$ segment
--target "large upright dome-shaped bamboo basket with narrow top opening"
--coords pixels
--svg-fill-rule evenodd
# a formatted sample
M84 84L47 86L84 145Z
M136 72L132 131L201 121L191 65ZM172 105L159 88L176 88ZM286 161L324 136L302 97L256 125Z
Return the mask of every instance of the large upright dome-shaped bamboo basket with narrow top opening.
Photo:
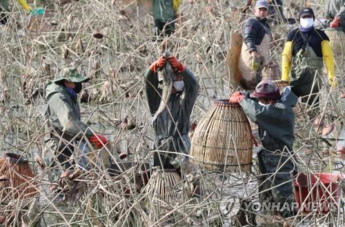
M253 135L244 111L228 99L215 101L195 129L193 162L214 172L250 172Z

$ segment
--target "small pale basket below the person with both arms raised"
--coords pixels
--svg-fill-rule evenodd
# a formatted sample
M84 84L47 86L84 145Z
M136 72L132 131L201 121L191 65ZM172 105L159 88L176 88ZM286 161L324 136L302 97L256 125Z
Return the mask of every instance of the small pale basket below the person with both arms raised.
M148 181L148 193L150 195L161 195L166 201L182 201L182 179L179 173L174 169L157 168L152 172L150 181Z

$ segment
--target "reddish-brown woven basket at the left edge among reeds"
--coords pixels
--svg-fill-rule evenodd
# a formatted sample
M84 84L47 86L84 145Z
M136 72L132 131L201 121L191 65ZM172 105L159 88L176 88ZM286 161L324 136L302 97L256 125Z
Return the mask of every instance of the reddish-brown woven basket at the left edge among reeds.
M21 155L6 153L0 158L0 175L10 178L10 186L14 189L14 198L28 199L37 195L34 174L29 162Z

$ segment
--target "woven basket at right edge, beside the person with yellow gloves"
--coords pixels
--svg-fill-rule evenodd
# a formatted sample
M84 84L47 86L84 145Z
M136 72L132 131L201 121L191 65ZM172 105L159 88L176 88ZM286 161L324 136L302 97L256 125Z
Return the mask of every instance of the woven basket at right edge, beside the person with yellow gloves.
M325 30L334 56L345 55L345 34L342 28L328 28Z

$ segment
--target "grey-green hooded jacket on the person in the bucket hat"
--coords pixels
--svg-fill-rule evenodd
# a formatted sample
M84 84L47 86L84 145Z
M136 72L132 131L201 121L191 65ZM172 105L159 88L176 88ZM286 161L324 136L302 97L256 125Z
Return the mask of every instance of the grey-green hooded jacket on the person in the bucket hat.
M48 125L63 138L70 140L76 135L81 139L83 133L92 135L88 126L80 121L80 108L77 97L72 97L66 88L58 83L48 83L46 87L46 113ZM50 132L53 132L50 128Z

